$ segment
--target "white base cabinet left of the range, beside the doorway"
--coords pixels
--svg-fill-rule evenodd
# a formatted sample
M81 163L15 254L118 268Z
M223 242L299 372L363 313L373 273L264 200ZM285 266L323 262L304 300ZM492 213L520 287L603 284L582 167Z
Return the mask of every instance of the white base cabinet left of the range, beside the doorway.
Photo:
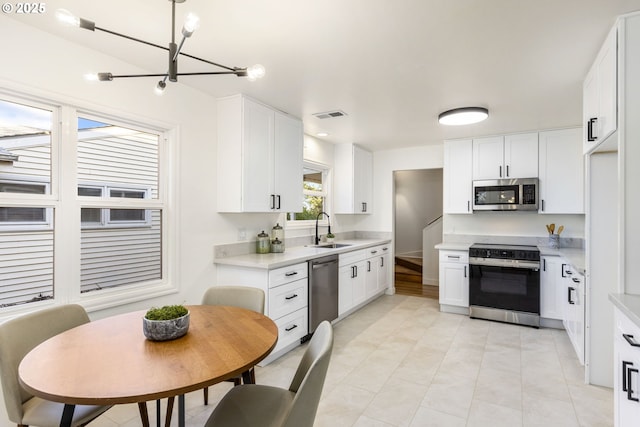
M468 314L469 252L440 251L440 310Z

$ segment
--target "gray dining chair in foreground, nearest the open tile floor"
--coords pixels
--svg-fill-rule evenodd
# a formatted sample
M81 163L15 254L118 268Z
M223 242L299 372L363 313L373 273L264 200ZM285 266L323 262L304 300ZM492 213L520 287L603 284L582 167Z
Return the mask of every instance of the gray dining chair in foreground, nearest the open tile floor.
M333 348L333 329L323 321L309 342L288 389L259 384L233 387L206 427L312 427Z

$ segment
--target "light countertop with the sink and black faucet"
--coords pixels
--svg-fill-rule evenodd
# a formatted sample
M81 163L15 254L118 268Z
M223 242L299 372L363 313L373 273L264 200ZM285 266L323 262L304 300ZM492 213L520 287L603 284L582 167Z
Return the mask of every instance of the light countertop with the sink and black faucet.
M245 254L236 255L230 257L220 257L214 259L215 264L219 265L233 265L237 267L249 267L271 270L279 267L286 267L288 265L296 264L299 262L306 262L310 259L320 258L327 255L341 254L345 252L351 252L359 249L365 249L372 246L383 245L390 243L389 239L352 239L352 240L339 240L333 243L346 244L342 248L317 248L313 246L295 246L292 248L287 247L283 253L268 253L268 254ZM323 244L323 243L321 243Z

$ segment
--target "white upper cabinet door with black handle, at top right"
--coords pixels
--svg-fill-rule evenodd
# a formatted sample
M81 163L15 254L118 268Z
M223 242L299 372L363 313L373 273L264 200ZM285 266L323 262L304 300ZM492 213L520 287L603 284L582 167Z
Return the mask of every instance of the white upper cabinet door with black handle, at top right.
M584 152L593 151L618 127L617 28L604 41L583 84Z

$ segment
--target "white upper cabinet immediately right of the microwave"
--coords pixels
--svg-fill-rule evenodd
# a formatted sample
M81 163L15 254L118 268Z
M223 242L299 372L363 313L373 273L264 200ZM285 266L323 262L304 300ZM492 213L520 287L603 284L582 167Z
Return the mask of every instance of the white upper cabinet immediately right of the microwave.
M582 129L539 134L539 213L584 213Z

